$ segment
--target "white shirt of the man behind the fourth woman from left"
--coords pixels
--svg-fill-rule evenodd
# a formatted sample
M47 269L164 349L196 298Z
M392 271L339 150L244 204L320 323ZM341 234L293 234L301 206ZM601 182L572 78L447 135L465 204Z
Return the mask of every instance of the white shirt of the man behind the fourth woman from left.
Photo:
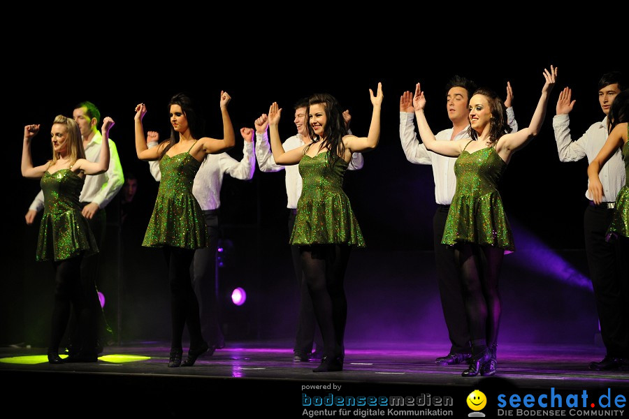
M435 181L435 202L440 205L450 205L454 191L456 191L456 175L454 175L454 162L456 157L442 156L429 152L423 142L417 140L414 125L415 114L412 112L400 112L400 140L406 159L415 164L429 164L433 166L433 179ZM513 108L507 108L507 122L512 132L518 131L518 123L515 120ZM453 128L444 129L435 135L438 141L461 140L468 138L468 126L460 133L456 133L451 139Z

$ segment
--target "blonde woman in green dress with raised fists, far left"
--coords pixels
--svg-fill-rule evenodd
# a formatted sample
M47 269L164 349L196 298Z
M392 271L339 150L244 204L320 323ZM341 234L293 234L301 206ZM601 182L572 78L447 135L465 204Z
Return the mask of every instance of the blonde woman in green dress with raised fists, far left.
M66 330L71 304L78 313L80 351L73 362L96 362L96 314L89 304L91 289L81 288L82 258L99 251L87 220L81 214L79 196L85 175L99 175L109 167L109 130L113 119L103 119L101 154L98 162L87 161L81 131L74 119L57 115L50 130L52 159L33 167L31 140L39 124L24 126L22 176L39 179L44 193L44 212L39 228L36 260L52 260L55 267L55 307L48 346L48 362L61 364L59 344ZM89 286L88 286L89 288Z

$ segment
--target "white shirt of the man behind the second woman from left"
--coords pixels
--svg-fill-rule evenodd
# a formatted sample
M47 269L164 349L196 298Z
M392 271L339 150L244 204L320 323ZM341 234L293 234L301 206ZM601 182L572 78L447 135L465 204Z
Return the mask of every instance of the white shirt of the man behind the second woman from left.
M157 141L148 144L149 148L155 146L157 146ZM240 161L233 159L227 153L207 154L192 184L192 194L201 206L201 210L217 210L221 206L221 185L225 173L236 179L249 180L253 178L255 166L253 142L245 141L243 159ZM150 161L149 167L151 175L159 182L161 180L159 160Z

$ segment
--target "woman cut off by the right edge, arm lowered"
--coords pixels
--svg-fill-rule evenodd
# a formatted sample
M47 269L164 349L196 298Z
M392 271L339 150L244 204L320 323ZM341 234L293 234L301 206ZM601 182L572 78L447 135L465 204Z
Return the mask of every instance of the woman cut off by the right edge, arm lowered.
M600 168L609 160L617 149L621 149L623 160L625 161L626 179L629 178L629 89L621 91L609 108L609 136L603 145L598 156L588 166L588 177L590 179L588 189L595 204L600 204L603 197L603 188L598 174ZM627 182L625 180L625 182ZM606 197L613 200L614 197ZM616 210L614 218L609 226L607 240L612 236L621 236L621 240L626 242L629 238L629 186L621 188L616 197ZM629 354L628 354L629 355Z

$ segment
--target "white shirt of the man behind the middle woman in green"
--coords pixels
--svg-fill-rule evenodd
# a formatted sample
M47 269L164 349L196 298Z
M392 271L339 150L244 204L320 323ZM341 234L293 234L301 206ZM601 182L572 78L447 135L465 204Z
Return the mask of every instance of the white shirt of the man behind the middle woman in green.
M305 143L301 134L293 135L286 141L282 142L284 151L296 149L301 147ZM280 166L275 164L273 159L273 152L270 149L270 143L268 142L268 133L265 131L263 134L256 132L256 157L258 159L258 166L263 172L279 172L280 170L286 170L286 195L287 195L287 208L296 210L297 201L301 196L301 189L303 187L303 179L299 174L299 165L293 164L289 166ZM349 170L360 170L365 164L362 153L352 154L352 161L349 162Z

